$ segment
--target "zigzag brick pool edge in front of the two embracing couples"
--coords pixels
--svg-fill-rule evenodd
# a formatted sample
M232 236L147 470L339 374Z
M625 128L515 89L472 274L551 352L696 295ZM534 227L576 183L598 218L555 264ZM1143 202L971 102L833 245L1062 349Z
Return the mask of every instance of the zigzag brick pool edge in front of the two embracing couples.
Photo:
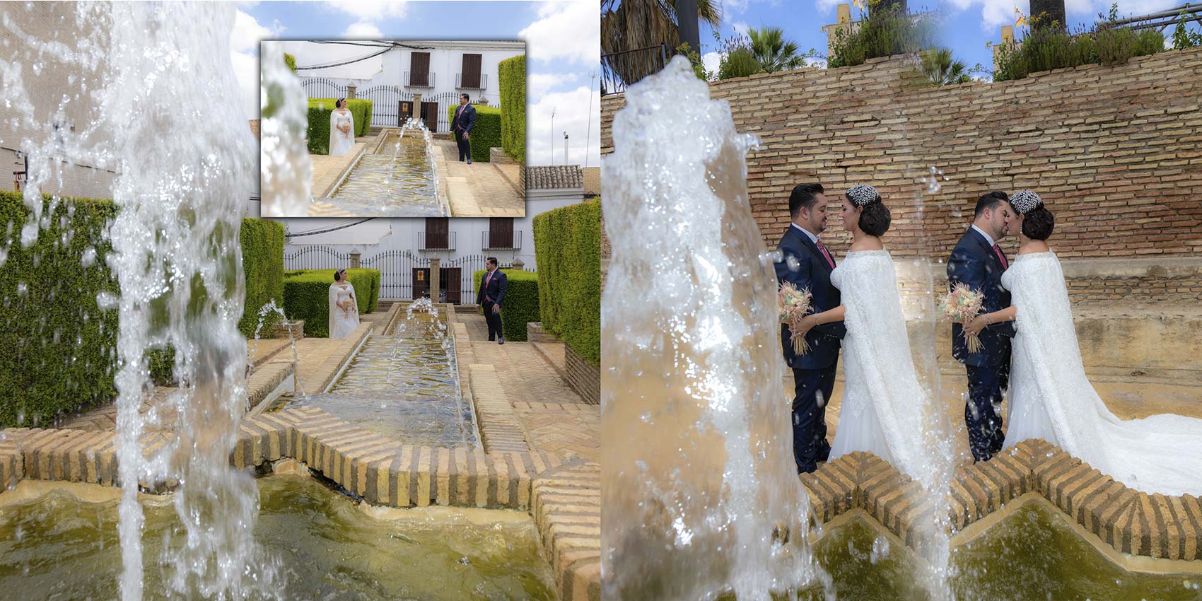
M916 494L915 481L883 459L850 453L801 478L819 522L858 507L910 547L922 545L915 528L923 513L933 511L932 504ZM988 462L957 469L951 522L963 530L1028 493L1047 499L1120 553L1202 560L1202 501L1197 496L1127 488L1043 440L1027 440Z

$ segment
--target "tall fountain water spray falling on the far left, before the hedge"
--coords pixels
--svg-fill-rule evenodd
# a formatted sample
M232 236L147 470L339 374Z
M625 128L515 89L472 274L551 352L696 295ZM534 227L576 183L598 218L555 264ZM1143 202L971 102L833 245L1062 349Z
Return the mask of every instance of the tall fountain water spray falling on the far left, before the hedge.
M14 8L13 11L19 11ZM25 11L30 5L25 5ZM119 298L97 298L119 311L117 340L117 459L123 487L120 542L125 601L143 596L139 484L178 484L180 519L165 546L165 581L182 596L274 597L276 563L264 558L252 531L258 494L249 474L230 466L242 418L245 339L237 329L244 284L239 226L254 185L248 115L237 101L228 59L234 11L218 5L79 4L73 44L32 42L37 63L63 65L77 77L71 108L79 131L47 126L22 79L20 65L0 65L5 99L18 99L20 119L38 132L22 142L31 153L25 200L37 206L22 232L28 245L46 227L41 194L63 188L63 165L111 169L118 206L105 257ZM32 18L32 16L30 16ZM5 16L6 23L12 23ZM282 64L282 61L280 61ZM305 178L308 179L308 178ZM88 257L83 257L88 261ZM95 258L91 258L93 261ZM175 351L171 395L178 413L166 440L151 440L153 416L139 410L153 391L147 351Z

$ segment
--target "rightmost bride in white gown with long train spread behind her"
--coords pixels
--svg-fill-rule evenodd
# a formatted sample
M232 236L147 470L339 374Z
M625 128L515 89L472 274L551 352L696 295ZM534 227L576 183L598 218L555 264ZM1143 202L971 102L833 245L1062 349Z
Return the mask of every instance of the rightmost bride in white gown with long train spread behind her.
M1039 195L1010 200L1020 248L1001 276L1012 305L970 323L1014 320L1005 447L1043 439L1146 493L1202 494L1202 419L1161 413L1119 419L1085 376L1060 261L1045 242L1054 219ZM965 328L969 331L969 328Z

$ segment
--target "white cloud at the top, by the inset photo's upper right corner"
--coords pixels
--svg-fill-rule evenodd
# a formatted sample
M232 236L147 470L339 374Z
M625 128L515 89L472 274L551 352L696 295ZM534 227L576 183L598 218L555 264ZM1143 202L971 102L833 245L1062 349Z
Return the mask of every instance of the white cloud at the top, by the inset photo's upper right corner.
M534 60L601 63L601 19L596 2L542 2L538 19L518 31Z

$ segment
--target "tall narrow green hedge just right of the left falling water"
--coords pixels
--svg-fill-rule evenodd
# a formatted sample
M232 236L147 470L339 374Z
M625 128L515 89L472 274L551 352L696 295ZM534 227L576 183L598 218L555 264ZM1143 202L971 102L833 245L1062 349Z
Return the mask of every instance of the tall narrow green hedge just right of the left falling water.
M238 332L252 339L258 310L272 300L284 307L284 225L267 219L243 219L238 239L246 280L246 302ZM266 335L279 321L280 314L275 311L264 315L258 335Z

